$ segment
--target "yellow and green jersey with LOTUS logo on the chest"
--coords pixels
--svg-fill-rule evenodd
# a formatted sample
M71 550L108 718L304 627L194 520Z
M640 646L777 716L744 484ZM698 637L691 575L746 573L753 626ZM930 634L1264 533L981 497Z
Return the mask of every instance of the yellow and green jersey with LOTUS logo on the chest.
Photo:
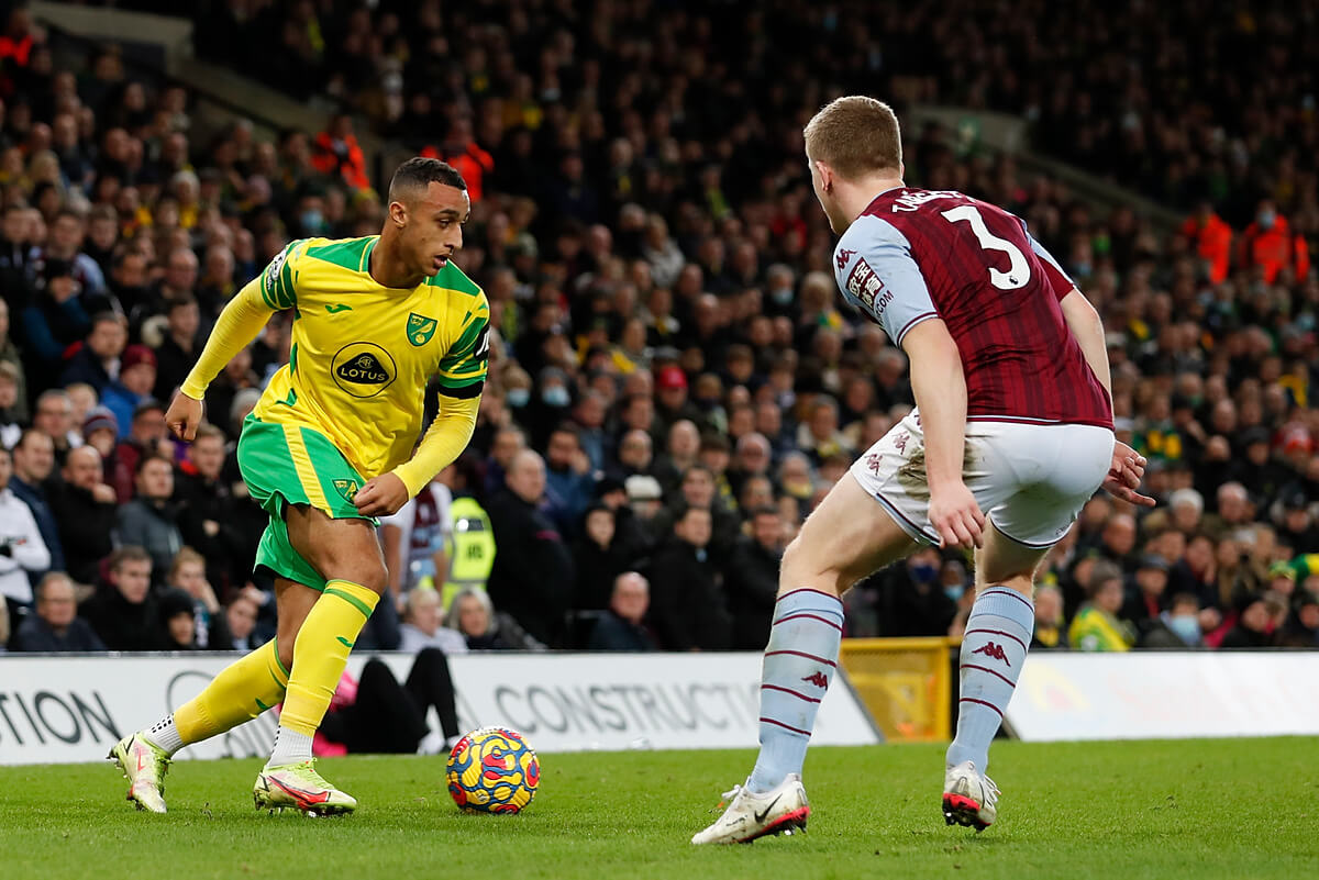
M450 397L480 394L489 344L489 303L462 269L383 287L369 273L379 238L294 241L243 291L294 316L289 362L255 415L319 431L367 480L412 454L430 377Z

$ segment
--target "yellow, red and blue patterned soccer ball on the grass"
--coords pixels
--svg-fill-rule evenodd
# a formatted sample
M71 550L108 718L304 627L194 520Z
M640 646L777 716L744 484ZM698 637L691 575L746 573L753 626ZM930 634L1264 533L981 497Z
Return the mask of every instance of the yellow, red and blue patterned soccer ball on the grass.
M517 813L536 797L541 763L506 727L474 730L448 754L448 793L464 813Z

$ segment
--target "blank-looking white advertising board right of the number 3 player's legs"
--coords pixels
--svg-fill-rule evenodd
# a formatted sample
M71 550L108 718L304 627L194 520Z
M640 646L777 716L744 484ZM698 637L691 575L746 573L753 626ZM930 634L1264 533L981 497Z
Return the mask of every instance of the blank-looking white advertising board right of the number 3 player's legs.
M1025 740L1315 735L1316 682L1315 651L1037 651L1006 723Z

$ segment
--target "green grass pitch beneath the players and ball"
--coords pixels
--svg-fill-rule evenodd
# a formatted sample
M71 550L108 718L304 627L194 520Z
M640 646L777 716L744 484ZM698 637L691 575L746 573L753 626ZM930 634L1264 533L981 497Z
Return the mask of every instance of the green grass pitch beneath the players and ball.
M179 761L170 813L111 765L0 768L7 877L1295 877L1319 872L1319 740L995 747L983 834L946 827L943 748L815 748L806 835L698 848L752 752L543 755L521 815L463 815L441 757L321 761L361 802L310 819L252 808L260 761Z

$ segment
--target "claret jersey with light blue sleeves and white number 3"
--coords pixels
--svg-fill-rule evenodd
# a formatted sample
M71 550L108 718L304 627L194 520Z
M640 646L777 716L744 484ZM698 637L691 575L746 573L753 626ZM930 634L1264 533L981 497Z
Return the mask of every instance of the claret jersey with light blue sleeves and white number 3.
M967 378L967 419L1113 427L1108 393L1063 319L1074 285L1002 208L948 190L897 187L834 250L844 299L901 345L931 317Z

